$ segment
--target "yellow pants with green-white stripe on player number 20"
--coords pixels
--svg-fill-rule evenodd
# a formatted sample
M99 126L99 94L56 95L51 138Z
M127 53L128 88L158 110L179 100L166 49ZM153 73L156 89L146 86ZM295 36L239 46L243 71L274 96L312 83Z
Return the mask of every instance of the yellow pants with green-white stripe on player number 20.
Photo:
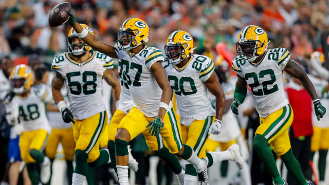
M206 158L206 140L210 125L215 121L214 116L205 120L194 120L190 126L181 124L182 142L192 147L197 156Z

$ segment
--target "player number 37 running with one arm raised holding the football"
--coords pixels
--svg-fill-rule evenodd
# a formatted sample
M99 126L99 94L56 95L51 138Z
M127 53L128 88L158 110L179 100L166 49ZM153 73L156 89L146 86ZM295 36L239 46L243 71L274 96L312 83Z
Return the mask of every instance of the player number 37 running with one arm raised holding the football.
M140 133L144 134L152 150L169 163L176 165L175 174L183 171L178 160L172 155L167 155L168 149L162 147L162 137L165 138L170 153L192 163L198 173L204 174L202 181L206 182L207 161L199 159L190 146L181 143L180 126L169 104L172 89L161 65L162 53L157 48L146 46L149 40L148 25L139 18L127 19L118 30L118 42L113 47L89 34L77 23L72 12L67 22L88 45L110 57L120 59L121 84L130 89L135 106L121 120L115 136L116 167L120 184L129 184L127 145ZM145 127L149 126L151 127L148 132Z

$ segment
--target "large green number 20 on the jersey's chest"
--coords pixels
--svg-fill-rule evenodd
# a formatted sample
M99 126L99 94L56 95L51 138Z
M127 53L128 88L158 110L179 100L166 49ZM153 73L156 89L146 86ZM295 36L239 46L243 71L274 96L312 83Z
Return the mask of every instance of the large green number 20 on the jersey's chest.
M175 91L176 95L181 96L181 94L183 94L185 96L188 96L188 95L193 95L197 92L194 80L191 77L181 77L178 80L177 77L169 75L168 80L169 83L170 81L174 81L174 86L171 86L171 88ZM192 91L185 91L184 82L188 82L190 84Z

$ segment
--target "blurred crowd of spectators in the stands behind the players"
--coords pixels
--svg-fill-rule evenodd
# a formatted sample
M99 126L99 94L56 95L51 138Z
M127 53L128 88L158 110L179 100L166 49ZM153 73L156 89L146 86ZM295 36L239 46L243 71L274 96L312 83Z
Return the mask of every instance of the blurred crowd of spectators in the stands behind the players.
M66 34L70 26L48 26L49 11L61 2L63 1L0 1L0 58L10 55L15 64L41 63L49 66L54 55L67 51ZM240 30L247 25L259 25L267 31L271 40L269 48L284 47L290 51L291 59L304 61L307 61L314 51L321 51L325 53L325 61L328 60L328 1L68 2L71 3L78 22L92 27L101 40L110 44L115 44L116 31L126 18L139 17L150 27L148 45L163 51L167 36L172 31L186 30L193 36L197 46L195 52L205 54L217 65L221 65L224 60L230 63L236 55L235 42ZM325 62L325 66L328 68L329 63ZM133 147L133 152L136 152L136 149L141 147L136 147L135 151ZM5 147L1 150L2 153L6 152ZM144 151L147 150L142 150ZM61 178L61 170L57 168L63 168L60 161L54 165L54 171L58 171L58 178ZM154 178L152 175L151 177Z

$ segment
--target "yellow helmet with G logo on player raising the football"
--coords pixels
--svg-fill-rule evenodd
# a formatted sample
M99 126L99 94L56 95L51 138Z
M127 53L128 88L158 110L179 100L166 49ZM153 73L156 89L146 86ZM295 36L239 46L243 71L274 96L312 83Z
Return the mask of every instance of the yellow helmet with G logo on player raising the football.
M118 33L118 47L128 51L149 41L149 26L140 18L125 20Z

